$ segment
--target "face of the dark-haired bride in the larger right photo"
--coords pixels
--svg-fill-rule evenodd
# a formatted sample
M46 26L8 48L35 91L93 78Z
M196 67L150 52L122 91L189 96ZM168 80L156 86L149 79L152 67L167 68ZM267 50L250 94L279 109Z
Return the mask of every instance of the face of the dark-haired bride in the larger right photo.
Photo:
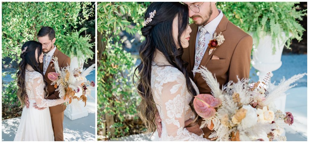
M189 46L189 39L190 39L190 33L191 33L191 28L188 25L186 30L182 33L182 35L180 36L180 42L181 42L181 46L183 48L187 48ZM174 18L173 21L173 37L175 39L176 44L178 44L178 15ZM178 48L180 46L178 45Z

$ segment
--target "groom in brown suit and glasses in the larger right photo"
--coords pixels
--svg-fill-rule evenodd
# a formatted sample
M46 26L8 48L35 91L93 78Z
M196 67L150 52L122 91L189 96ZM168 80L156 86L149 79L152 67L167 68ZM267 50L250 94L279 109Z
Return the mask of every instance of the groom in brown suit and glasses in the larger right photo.
M188 6L189 17L194 23L190 25L189 47L184 48L183 60L188 62L188 72L197 85L200 94L211 94L210 87L194 70L206 67L220 84L228 81L237 82L239 79L248 78L250 72L250 59L252 50L252 37L230 22L221 10L217 9L216 2L183 2ZM208 43L214 33L222 34L225 41L215 50L210 52ZM162 130L160 119L156 119L159 133ZM199 120L201 125L202 119ZM191 120L187 121L188 125ZM199 125L189 127L192 133L201 135ZM208 138L212 132L208 128L202 129L204 137ZM209 138L208 138L209 139Z

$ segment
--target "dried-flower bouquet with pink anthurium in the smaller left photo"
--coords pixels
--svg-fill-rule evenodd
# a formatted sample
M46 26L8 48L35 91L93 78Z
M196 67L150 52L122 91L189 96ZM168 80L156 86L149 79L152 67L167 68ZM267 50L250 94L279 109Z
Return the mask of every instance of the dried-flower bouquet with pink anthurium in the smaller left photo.
M87 96L95 87L94 81L88 81L86 76L95 69L95 64L85 70L82 69L82 65L75 69L70 66L60 69L57 57L53 57L51 62L53 62L56 72L48 73L47 77L53 81L52 85L56 88L55 91L59 91L59 97L69 98L69 104L73 99L82 100L86 106Z

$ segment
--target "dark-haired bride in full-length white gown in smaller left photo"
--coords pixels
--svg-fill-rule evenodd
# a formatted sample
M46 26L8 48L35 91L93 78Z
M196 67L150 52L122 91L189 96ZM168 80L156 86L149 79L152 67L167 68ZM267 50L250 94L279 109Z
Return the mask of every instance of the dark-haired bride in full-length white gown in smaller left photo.
M44 99L46 95L46 81L40 71L39 63L43 62L42 44L36 41L25 42L22 46L17 77L17 97L23 107L20 123L14 141L53 141L53 128L49 108L25 108L24 98L28 95L30 104L38 107L50 107L62 104L68 100Z

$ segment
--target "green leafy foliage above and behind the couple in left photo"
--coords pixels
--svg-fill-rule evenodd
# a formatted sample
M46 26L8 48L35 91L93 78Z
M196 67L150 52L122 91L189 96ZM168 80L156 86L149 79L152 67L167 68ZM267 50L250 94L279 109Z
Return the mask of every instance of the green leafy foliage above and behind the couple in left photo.
M2 58L12 58L11 63L19 61L16 57L19 57L20 47L26 41L36 41L42 26L53 27L56 38L70 33L94 14L89 6L94 7L91 2L2 2ZM81 16L78 15L80 12ZM89 44L87 40L83 42L86 43L79 45ZM66 47L66 44L56 40L59 47Z

